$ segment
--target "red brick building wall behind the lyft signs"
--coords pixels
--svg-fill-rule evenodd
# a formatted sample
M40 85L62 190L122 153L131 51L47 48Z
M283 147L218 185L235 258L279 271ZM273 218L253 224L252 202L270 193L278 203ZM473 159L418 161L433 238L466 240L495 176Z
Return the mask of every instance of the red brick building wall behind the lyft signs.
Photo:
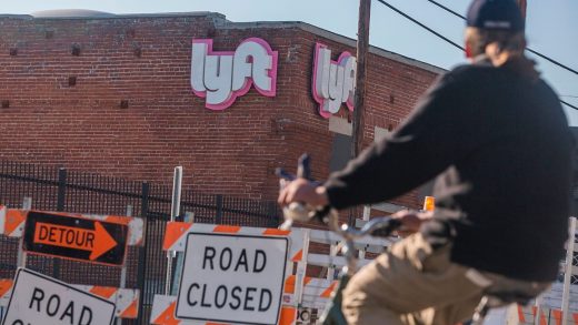
M248 39L266 43L277 60L272 91L257 91L253 75L227 108L207 109L209 99L191 90L192 39L215 55L232 55ZM333 61L355 55L353 40L302 22L236 23L211 12L1 16L0 160L163 183L182 165L187 187L273 199L277 166L295 169L310 152L322 179L349 152L346 101L322 116L312 94L319 47ZM395 129L440 72L371 48L365 144ZM418 196L396 203L418 206Z

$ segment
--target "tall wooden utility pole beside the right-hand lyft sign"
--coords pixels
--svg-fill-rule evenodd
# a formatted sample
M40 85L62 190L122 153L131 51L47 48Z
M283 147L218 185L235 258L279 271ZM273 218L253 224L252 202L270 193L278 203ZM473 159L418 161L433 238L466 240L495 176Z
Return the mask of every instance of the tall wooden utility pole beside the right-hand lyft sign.
M369 50L369 17L371 0L359 0L359 22L357 28L357 72L352 125L351 156L356 158L363 142L363 112L366 110L367 53Z

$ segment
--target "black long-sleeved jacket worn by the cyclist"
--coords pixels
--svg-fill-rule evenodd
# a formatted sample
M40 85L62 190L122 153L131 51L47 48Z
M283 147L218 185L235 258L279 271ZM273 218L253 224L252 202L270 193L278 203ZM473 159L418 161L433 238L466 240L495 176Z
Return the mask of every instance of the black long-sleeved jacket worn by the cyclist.
M442 75L392 135L325 184L332 206L393 199L438 175L427 237L456 263L552 281L564 254L574 142L554 91L488 62Z

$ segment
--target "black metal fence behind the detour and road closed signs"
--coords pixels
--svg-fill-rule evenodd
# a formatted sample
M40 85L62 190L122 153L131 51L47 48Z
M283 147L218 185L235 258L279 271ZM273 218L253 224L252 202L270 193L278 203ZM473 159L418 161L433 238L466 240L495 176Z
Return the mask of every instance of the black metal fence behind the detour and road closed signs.
M165 223L169 220L172 187L132 182L79 171L0 161L0 204L21 207L31 197L32 209L74 213L113 214L144 219L144 245L129 247L126 287L141 291L139 318L123 324L149 324L155 294L162 293L167 254L162 252ZM181 211L195 222L243 226L277 226L280 211L271 201L237 199L182 191ZM0 278L13 277L18 240L0 236ZM72 284L120 287L119 267L33 256L28 268Z

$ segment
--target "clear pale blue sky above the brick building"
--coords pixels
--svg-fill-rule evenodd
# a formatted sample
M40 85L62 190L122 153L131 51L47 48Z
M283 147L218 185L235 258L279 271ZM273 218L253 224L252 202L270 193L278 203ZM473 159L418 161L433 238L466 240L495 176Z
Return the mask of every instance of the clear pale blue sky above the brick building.
M356 37L358 0L0 0L3 13L47 9L92 9L112 13L216 11L231 21L305 21L350 38ZM387 0L436 31L461 43L464 22L426 0ZM578 70L578 1L527 0L529 45ZM469 0L438 0L465 13ZM571 19L574 18L574 19ZM372 1L372 45L441 68L464 62L462 53L377 1ZM539 70L562 100L578 106L578 75L538 60ZM571 125L578 111L566 108Z

